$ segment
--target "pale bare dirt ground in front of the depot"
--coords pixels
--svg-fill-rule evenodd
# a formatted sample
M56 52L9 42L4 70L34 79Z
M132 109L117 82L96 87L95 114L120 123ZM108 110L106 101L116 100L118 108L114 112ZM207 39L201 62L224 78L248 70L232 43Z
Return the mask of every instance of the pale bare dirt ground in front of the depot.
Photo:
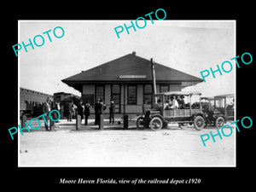
M45 131L42 120L38 131L20 135L19 166L236 166L234 128L230 137L217 136L216 143L210 138L204 147L201 135L217 133L213 126L196 131L193 125L180 129L171 124L160 131L141 131L135 121L129 125L124 130L105 121L99 131L90 120L76 131L74 119L61 119L55 131Z

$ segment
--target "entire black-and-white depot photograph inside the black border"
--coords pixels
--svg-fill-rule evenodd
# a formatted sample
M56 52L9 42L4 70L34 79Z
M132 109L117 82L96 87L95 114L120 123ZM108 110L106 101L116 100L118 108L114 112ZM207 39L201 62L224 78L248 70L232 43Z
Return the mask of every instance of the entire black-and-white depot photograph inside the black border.
M236 167L236 20L152 19L18 21L19 167Z

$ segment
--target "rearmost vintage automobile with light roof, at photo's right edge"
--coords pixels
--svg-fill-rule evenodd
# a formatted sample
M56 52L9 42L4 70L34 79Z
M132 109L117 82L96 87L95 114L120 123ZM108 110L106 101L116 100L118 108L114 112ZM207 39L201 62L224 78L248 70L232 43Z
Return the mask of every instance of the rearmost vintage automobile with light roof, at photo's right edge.
M222 113L226 120L234 120L234 94L214 96L214 108Z

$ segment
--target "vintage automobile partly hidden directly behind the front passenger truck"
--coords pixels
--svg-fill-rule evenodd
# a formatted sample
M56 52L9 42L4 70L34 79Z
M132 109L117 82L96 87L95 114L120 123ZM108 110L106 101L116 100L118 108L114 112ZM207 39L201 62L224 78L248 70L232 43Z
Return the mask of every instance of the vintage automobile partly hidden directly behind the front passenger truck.
M215 125L217 128L221 128L224 125L226 118L214 107L214 97L201 97L201 107L205 113L206 126Z

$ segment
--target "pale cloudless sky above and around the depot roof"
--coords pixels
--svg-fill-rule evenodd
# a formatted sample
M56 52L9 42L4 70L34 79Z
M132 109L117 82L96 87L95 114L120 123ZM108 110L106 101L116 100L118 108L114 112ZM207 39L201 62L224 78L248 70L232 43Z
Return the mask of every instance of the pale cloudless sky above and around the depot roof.
M135 22L135 21L134 21ZM27 46L19 51L20 87L50 95L68 92L81 93L61 82L81 71L99 66L136 51L140 57L172 67L201 78L201 71L217 69L224 61L236 56L236 22L234 20L147 20L143 29L114 32L117 26L129 26L131 20L19 20L18 43L29 38L44 37L44 45L34 49ZM143 23L138 23L143 26ZM55 38L53 30L61 26L62 38ZM49 42L49 32L52 42ZM55 30L61 35L61 30ZM37 43L41 44L40 38ZM15 53L14 53L15 54ZM235 93L236 64L230 73L215 73L202 82L183 90L196 90L202 96ZM226 70L230 67L225 66ZM157 73L157 72L156 72Z

